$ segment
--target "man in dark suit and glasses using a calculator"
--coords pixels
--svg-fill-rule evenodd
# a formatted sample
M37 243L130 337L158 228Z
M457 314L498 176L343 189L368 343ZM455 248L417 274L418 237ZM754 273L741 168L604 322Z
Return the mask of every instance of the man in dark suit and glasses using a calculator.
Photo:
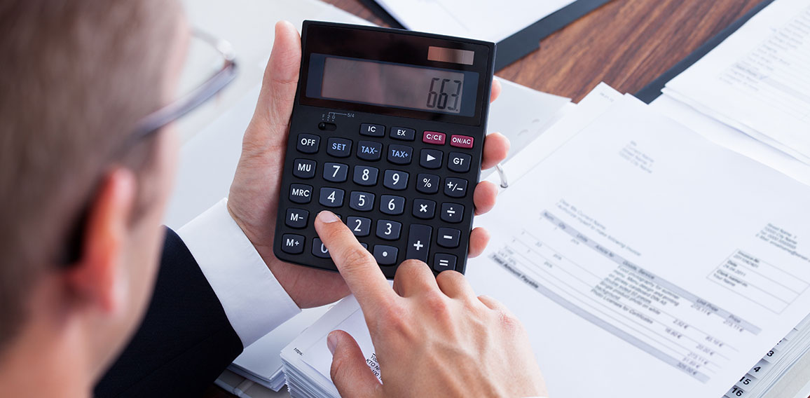
M177 139L170 125L130 132L173 101L188 32L166 0L0 6L0 393L199 396L299 308L351 292L383 384L351 336L333 332L332 378L344 396L544 395L520 323L458 272L434 278L407 261L391 289L330 212L314 222L340 274L275 259L301 59L290 24L276 26L228 201L179 233L160 226ZM490 135L484 166L507 148ZM476 210L492 208L495 194L477 186ZM471 255L487 240L476 229Z

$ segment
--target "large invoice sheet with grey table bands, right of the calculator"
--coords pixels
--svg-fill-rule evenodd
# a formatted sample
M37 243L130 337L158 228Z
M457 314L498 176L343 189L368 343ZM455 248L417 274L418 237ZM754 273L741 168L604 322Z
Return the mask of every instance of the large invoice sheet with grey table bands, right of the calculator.
M501 193L467 276L552 396L723 396L810 312L807 203L625 96Z

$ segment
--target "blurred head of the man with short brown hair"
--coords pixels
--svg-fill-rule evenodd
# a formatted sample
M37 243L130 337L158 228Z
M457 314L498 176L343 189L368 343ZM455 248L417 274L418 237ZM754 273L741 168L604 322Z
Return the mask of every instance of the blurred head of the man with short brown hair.
M125 141L173 99L187 32L166 0L0 5L0 370L37 336L96 376L143 314L176 145Z

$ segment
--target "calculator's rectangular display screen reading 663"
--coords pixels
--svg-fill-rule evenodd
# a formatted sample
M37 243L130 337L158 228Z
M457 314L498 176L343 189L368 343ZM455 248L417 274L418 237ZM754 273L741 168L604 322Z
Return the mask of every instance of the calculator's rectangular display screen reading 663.
M309 77L307 96L435 113L475 114L476 72L313 54ZM321 81L312 81L313 77Z

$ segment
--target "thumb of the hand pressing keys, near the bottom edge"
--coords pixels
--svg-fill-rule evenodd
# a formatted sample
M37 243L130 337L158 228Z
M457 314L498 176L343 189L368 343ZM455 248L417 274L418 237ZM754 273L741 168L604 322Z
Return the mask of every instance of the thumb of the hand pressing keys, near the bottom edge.
M336 330L326 337L326 345L332 352L330 375L340 396L382 396L382 384L366 365L363 352L352 336Z

